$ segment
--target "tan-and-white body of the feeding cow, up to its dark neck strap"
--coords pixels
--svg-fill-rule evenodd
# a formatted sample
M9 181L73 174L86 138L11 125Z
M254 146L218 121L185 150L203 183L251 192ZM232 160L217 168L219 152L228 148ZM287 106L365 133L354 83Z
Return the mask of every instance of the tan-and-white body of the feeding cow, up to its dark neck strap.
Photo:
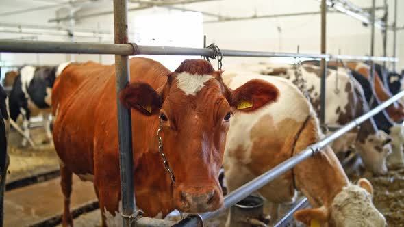
M281 77L241 75L224 81L238 88L251 79L273 83L280 91L279 99L252 114L236 113L230 122L223 165L230 191L292 157L292 146L305 119L315 116L304 96L290 81ZM316 133L316 132L314 132ZM233 174L231 174L233 173ZM231 175L231 176L228 176ZM292 172L287 172L260 189L273 202L290 202L294 197Z

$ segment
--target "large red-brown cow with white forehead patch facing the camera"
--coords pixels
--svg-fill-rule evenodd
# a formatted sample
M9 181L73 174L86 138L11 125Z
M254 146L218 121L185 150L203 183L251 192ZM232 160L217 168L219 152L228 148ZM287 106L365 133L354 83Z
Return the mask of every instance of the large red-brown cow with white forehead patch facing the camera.
M229 90L221 74L199 59L184 61L175 72L151 59L130 59L131 83L120 99L131 108L136 206L146 216L165 216L173 209L199 213L222 206L218 171L232 112L240 103L253 103L239 108L246 112L272 103L278 90L259 80ZM61 159L65 226L72 224L72 173L94 180L103 226L121 221L115 86L114 66L84 64L68 66L53 90L53 139ZM159 116L175 183L158 152Z

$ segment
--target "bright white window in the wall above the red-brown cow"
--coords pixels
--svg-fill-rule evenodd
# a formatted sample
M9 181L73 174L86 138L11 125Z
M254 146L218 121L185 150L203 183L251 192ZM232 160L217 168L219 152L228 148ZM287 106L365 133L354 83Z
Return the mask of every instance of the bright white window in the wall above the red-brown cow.
M148 46L203 47L203 16L199 12L166 12L135 16L134 41ZM198 56L151 56L169 70L175 70L184 59Z

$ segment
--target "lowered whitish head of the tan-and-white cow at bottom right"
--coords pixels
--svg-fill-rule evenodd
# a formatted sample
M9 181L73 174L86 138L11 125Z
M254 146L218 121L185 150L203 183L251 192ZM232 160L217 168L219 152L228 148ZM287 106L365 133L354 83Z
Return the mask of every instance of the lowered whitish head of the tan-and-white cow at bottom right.
M294 217L307 225L317 222L320 226L375 226L385 227L386 219L372 203L373 187L364 178L357 185L344 187L336 195L330 207L302 209ZM327 225L328 224L328 225Z

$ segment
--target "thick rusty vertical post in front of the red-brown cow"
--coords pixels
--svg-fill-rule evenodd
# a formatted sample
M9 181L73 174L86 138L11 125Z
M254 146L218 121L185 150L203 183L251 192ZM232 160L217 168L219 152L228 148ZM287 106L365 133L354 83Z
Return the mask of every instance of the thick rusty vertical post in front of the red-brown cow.
M127 0L114 0L114 34L116 44L128 43ZM118 105L119 167L123 226L130 226L129 215L135 212L134 163L132 153L131 112L121 105L118 94L129 83L129 56L115 55L116 102ZM126 217L125 217L126 216Z

